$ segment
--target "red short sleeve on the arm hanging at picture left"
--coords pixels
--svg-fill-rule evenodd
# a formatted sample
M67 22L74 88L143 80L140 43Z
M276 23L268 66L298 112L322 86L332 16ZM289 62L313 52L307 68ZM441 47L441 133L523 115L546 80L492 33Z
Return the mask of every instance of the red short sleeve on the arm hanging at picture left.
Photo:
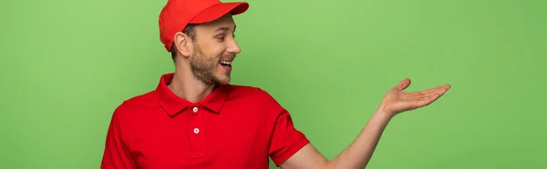
M105 150L100 164L101 169L136 168L129 150L122 140L122 126L119 121L120 105L110 120L108 126Z

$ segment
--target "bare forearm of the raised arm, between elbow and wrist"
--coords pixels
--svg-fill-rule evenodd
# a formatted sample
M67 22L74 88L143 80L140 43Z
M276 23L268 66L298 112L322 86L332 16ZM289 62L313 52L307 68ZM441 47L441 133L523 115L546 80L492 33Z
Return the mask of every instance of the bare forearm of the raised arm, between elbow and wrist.
M373 114L361 133L358 134L356 140L347 146L346 149L338 154L333 160L329 161L327 168L365 168L377 147L380 136L391 118L392 116L381 112Z

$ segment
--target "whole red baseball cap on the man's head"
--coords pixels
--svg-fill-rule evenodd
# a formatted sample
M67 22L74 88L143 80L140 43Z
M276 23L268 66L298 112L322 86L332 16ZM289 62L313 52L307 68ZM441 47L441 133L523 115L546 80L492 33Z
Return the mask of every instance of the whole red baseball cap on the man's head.
M168 0L160 13L160 41L167 51L173 37L188 24L211 22L228 13L243 14L249 8L246 2L222 3L220 0Z

